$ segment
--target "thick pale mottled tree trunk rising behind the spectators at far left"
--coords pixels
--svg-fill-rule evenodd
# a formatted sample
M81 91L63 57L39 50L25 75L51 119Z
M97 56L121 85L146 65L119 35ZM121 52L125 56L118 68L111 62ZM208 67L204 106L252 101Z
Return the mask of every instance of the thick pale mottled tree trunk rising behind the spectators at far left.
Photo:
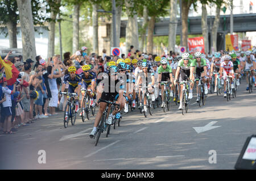
M35 60L35 30L32 18L31 0L17 0L19 9L20 29L22 31L23 60Z

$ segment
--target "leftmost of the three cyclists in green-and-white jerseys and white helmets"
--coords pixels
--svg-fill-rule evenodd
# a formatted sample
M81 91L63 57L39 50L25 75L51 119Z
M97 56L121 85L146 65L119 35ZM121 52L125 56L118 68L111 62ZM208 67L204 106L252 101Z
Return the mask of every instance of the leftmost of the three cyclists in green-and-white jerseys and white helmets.
M161 66L159 66L159 69L158 69L158 82L159 82L159 85L161 86L161 95L162 95L162 100L164 100L164 97L163 97L163 92L164 92L164 84L163 83L160 83L160 82L165 82L165 81L168 81L170 79L170 81L173 83L174 82L174 78L172 77L172 68L170 65L167 65L167 60L166 58L162 58L162 60L160 61L161 62ZM171 84L170 84L170 87L171 87ZM167 89L167 88L166 88ZM170 96L174 96L173 92L170 91ZM162 101L162 105L161 107L163 107L163 101Z

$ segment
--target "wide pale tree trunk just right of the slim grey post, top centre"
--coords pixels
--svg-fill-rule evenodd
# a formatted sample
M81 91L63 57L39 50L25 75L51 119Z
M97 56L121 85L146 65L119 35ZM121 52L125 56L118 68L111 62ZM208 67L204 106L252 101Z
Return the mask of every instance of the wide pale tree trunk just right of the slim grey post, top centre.
M129 0L125 0L126 7L131 7ZM131 45L134 46L134 49L139 49L139 32L138 32L138 22L137 22L137 14L133 11L127 10L128 21L126 25L126 54Z

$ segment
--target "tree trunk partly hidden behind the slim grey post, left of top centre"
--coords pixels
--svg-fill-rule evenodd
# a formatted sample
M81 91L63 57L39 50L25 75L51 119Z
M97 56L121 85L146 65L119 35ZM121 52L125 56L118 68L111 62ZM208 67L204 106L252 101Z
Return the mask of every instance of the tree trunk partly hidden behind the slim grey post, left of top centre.
M117 47L119 47L120 45L120 32L121 32L121 16L122 16L122 8L123 8L123 2L118 2L120 4L117 4L117 9L116 9L116 39L117 39ZM113 43L113 23L111 23L111 41L110 41L110 45L111 47L114 47L114 43Z

